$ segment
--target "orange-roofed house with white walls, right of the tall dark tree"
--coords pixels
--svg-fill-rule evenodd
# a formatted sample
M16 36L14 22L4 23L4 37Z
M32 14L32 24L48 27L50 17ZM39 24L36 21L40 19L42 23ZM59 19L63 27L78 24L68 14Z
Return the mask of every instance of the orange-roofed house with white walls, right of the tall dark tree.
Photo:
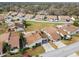
M43 41L46 41L46 38L42 38L39 31L33 31L29 33L25 33L24 37L26 38L26 46L32 47L36 43L43 44Z

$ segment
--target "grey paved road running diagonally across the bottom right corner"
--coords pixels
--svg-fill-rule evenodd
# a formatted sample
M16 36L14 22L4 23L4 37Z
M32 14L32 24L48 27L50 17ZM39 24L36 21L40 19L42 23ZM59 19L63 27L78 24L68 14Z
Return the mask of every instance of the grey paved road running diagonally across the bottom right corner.
M79 42L42 54L43 57L67 57L79 51Z

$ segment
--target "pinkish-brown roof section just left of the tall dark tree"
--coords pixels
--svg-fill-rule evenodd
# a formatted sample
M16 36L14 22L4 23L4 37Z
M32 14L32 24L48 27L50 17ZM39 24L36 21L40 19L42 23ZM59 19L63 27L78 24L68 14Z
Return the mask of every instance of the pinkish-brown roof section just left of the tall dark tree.
M8 44L10 45L11 50L15 50L19 48L19 33L11 32L9 34Z

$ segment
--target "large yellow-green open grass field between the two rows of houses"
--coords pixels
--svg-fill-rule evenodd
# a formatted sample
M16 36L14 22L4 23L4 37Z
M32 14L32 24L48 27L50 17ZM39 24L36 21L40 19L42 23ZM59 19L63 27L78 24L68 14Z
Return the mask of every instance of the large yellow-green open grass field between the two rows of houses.
M29 26L27 27L26 31L34 31L39 30L44 27L56 26L62 23L45 23L45 22L34 22L34 21L26 21Z

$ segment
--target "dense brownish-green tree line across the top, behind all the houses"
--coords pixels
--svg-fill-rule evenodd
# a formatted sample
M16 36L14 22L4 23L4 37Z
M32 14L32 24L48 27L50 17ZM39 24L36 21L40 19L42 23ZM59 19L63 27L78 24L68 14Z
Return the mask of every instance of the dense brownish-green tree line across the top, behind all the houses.
M39 11L46 11L51 15L79 15L79 3L0 3L0 13L8 11L23 11L24 13L36 14Z

